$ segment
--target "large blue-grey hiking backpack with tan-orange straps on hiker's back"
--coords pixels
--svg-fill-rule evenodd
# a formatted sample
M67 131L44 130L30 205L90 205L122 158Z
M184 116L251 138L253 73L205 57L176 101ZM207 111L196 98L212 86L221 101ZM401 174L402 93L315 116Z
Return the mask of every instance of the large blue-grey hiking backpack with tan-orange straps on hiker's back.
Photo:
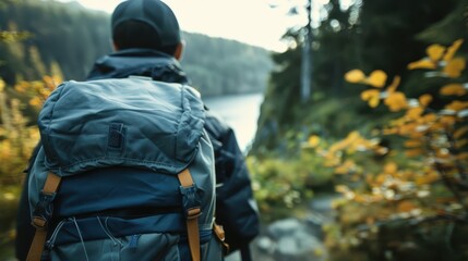
M61 84L38 117L27 260L223 260L204 120L185 85Z

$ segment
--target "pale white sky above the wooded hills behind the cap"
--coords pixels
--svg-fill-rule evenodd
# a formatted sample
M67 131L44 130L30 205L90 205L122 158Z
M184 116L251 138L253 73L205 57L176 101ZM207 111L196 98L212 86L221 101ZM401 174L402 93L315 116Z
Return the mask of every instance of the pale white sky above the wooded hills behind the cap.
M122 0L60 1L77 1L85 8L111 13ZM235 39L272 51L284 51L287 48L287 42L280 40L287 28L307 23L305 15L296 17L286 15L291 3L304 7L305 0L164 0L164 2L176 13L184 32Z

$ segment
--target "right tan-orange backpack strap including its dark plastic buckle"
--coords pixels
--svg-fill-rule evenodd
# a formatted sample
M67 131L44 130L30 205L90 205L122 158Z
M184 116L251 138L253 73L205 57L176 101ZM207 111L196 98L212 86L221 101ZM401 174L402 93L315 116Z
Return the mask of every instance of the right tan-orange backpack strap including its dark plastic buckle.
M196 195L196 186L193 183L189 169L177 175L180 182L180 192L187 217L187 235L189 238L192 261L200 261L200 233L199 215L202 214L201 201Z

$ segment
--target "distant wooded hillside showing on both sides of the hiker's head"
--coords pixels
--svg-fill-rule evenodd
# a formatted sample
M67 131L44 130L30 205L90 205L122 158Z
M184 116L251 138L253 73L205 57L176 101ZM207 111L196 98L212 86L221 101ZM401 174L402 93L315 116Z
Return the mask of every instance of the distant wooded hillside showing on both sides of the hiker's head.
M111 52L109 14L75 2L0 1L0 32L27 32L21 42L0 44L0 77L14 84L46 74L85 79L93 62ZM269 52L233 40L183 33L182 66L204 95L259 92L272 69Z

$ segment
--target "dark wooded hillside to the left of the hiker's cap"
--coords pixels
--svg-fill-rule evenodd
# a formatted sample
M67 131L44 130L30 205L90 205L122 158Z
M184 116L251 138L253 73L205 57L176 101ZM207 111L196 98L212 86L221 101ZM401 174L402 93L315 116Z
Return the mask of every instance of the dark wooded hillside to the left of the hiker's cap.
M0 8L0 29L28 32L21 42L1 44L0 76L14 85L35 80L60 64L67 79L84 79L95 59L109 52L108 15L76 3L17 1ZM33 64L33 66L31 66ZM45 72L44 72L45 71Z

